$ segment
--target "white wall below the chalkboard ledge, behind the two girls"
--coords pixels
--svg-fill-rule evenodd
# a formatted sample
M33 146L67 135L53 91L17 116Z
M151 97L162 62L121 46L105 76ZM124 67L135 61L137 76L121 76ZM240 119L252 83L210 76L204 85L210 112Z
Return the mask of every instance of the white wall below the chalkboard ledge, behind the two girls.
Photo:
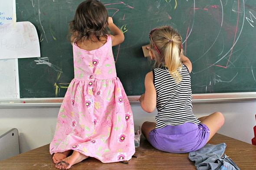
M154 121L154 113L144 112L140 106L132 106L135 124ZM197 117L220 111L226 122L219 133L251 144L253 126L256 125L256 103L194 104ZM20 138L20 152L29 151L49 144L53 138L59 107L0 109L0 130L17 128Z

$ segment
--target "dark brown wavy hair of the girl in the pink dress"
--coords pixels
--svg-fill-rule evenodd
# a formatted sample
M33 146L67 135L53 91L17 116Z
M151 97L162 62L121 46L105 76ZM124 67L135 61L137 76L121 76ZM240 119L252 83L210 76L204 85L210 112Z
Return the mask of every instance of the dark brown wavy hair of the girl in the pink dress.
M92 39L95 35L100 41L101 36L108 34L108 11L98 0L86 0L79 4L75 17L69 24L69 35L72 42Z

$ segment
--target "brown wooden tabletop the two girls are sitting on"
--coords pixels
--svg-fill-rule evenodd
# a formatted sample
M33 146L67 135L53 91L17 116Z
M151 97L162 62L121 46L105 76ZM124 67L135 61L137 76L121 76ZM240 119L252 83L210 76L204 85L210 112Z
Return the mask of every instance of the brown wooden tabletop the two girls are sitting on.
M216 134L210 144L226 143L225 154L229 156L241 170L256 169L256 146L246 142ZM121 162L103 164L95 158L88 158L71 167L71 170L195 170L194 162L188 154L171 154L153 148L146 139L141 139L140 148L136 148L135 156L128 164ZM17 156L0 161L0 169L4 170L43 170L56 169L49 154L49 144Z

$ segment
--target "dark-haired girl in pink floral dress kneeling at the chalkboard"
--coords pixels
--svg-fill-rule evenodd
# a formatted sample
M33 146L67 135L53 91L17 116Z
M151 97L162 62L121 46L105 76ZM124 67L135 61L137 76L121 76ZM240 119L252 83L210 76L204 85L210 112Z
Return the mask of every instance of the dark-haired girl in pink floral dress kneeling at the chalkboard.
M135 153L133 116L112 53L124 35L98 0L80 3L69 27L74 79L50 143L53 162L69 169L88 157L103 163L128 161Z

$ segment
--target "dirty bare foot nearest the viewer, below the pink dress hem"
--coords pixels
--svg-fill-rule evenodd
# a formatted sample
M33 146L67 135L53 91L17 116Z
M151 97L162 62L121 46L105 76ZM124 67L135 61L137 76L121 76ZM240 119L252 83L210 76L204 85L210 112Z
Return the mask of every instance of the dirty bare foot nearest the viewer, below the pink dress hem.
M85 160L86 158L88 158L88 156L85 156L78 151L73 151L72 155L66 157L65 159L62 159L62 161L58 162L55 167L61 170L67 170L72 165L77 164L82 160Z

